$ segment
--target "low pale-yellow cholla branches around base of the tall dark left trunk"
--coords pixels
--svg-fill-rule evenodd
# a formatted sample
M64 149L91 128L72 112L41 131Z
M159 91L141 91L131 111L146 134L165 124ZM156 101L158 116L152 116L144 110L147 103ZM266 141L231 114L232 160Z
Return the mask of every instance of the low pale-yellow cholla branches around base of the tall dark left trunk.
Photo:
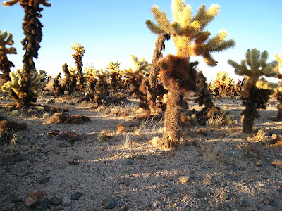
M21 89L23 71L17 70L16 72L10 72L9 75L10 75L11 81L6 82L1 87L1 90L4 92L9 92L12 89L16 95L16 96L13 96L13 98L15 98L17 103L19 103L26 96L31 96L32 98L29 98L29 100L31 102L35 102L35 99L39 96L39 93L42 91L42 88L46 84L45 81L42 82L42 79L44 79L45 75L40 74L39 72L35 71L33 72L32 78L30 80L30 89L28 89L28 92L26 93L26 92L23 92Z

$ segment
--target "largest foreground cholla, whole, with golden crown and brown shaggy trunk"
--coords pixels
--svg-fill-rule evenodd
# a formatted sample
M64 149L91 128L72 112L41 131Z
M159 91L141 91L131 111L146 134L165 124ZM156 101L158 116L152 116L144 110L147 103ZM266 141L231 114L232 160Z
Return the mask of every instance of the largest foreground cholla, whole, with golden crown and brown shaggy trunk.
M197 91L197 71L195 63L190 63L191 56L202 56L207 65L215 66L216 60L211 53L233 46L233 40L226 40L227 32L221 30L209 39L210 32L204 28L219 13L219 6L213 4L209 9L202 4L196 15L183 0L172 0L173 22L158 6L152 7L157 24L147 20L149 30L155 34L168 34L176 46L176 56L168 55L159 60L161 82L169 91L166 103L165 131L161 143L167 148L176 148L181 136L181 113L188 108L184 95Z

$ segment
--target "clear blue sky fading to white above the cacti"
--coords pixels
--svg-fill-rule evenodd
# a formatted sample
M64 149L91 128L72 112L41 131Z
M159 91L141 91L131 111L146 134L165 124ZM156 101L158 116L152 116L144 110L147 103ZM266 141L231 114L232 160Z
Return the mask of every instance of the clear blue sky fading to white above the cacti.
M71 56L75 53L71 49L75 42L85 47L83 68L93 65L104 69L110 60L118 60L123 70L133 66L130 54L145 57L151 63L157 35L147 29L145 21L154 20L150 11L152 6L158 5L172 20L170 0L51 0L49 3L51 7L43 6L42 18L39 18L44 27L35 67L52 76L62 72L64 63L75 66ZM227 30L228 39L236 41L232 49L213 54L219 62L214 68L209 68L200 58L193 58L200 61L198 68L208 79L215 79L219 71L228 72L235 80L240 79L227 60L231 58L240 62L245 58L247 49L268 51L269 62L275 60L274 53L281 55L281 0L186 0L185 3L192 6L193 14L202 4L206 4L207 8L219 4L221 11L209 23L207 30L211 32L211 37L221 29ZM8 59L16 65L12 70L22 68L25 53L20 44L24 38L21 26L23 8L19 4L0 6L0 15L0 30L6 29L13 34L13 47L18 51L17 55L8 55ZM176 53L172 40L166 41L164 56L169 53Z

